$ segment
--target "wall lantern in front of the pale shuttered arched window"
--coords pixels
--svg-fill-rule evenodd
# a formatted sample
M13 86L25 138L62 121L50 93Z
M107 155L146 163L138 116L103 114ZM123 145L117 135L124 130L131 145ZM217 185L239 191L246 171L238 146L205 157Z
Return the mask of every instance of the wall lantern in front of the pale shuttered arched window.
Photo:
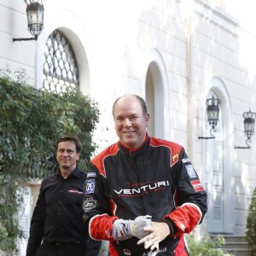
M209 122L209 125L211 125L210 134L212 137L198 137L198 139L212 139L215 138L215 136L212 134L212 131L216 131L216 126L218 125L218 113L219 113L219 105L220 100L218 98L212 98L207 99L207 119Z

